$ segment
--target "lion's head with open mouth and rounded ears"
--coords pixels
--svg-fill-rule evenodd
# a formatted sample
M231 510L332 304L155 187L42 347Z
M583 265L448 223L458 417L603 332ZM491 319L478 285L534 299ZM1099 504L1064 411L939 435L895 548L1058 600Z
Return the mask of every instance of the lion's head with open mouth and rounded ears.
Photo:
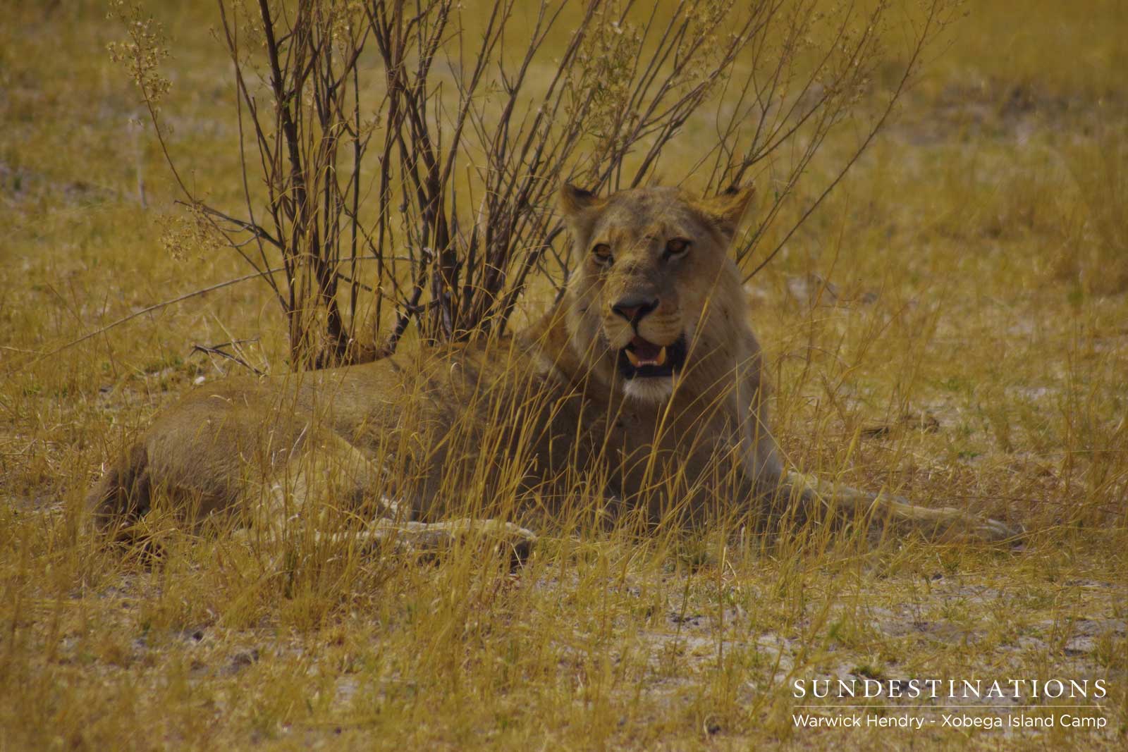
M679 381L719 383L734 361L756 355L729 253L751 196L751 188L713 198L675 187L605 198L561 189L575 254L569 331L597 375L629 398L660 402Z

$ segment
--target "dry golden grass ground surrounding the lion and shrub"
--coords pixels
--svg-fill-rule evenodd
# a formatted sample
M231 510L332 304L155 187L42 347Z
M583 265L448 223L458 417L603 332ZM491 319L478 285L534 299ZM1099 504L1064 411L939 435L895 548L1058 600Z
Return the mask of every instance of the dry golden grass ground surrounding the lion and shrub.
M213 6L180 5L160 10L171 144L222 202L238 192L228 64ZM100 463L194 381L239 370L193 346L245 340L281 372L285 328L246 282L43 356L247 269L161 247L174 194L131 125L104 8L6 3L0 749L1122 749L1128 8L968 10L749 287L792 462L1019 522L1023 545L549 531L511 575L469 550L281 572L187 536L151 566L83 531ZM1086 714L1107 726L794 726L794 679L848 675L1102 679Z

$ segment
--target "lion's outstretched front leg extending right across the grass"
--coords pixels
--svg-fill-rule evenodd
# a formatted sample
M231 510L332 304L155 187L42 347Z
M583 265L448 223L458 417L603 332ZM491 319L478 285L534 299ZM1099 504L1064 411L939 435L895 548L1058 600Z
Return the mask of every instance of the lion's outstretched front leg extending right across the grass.
M804 506L843 514L869 524L888 524L909 530L928 540L1016 541L1022 531L997 520L989 520L950 506L917 506L892 494L870 494L846 485L821 480L812 475L791 471L786 485L795 489ZM809 510L813 511L813 510Z

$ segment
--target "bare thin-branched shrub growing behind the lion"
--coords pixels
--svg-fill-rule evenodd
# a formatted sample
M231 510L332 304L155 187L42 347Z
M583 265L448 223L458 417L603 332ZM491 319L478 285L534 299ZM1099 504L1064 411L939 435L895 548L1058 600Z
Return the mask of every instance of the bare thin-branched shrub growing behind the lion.
M767 209L738 247L751 276L866 149L953 11L932 0L918 18L899 16L908 46L895 63L884 2L218 9L237 89L241 210L211 205L179 177L158 108L168 91L159 25L117 0L130 38L112 52L141 89L184 203L271 285L298 368L390 353L412 322L429 340L503 333L530 283L567 280L558 184L642 185L671 148L702 168L698 188L770 179ZM896 83L858 118L879 65L897 67ZM854 145L788 210L846 124ZM275 266L281 280L267 273Z

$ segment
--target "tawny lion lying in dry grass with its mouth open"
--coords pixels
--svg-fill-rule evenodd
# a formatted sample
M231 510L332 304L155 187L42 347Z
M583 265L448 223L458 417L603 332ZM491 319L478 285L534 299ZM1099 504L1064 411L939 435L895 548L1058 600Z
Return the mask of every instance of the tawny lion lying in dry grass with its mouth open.
M1012 536L784 469L729 253L751 196L598 197L565 185L575 272L530 330L492 347L203 386L157 416L89 505L104 529L165 498L190 521L236 510L272 531L349 507L369 515L363 536L485 529L522 549L534 536L514 524L446 517L468 497L483 515L496 512L492 498L519 499L505 512L519 521L565 498L608 517L691 523L761 503L797 519L832 510L927 536Z

